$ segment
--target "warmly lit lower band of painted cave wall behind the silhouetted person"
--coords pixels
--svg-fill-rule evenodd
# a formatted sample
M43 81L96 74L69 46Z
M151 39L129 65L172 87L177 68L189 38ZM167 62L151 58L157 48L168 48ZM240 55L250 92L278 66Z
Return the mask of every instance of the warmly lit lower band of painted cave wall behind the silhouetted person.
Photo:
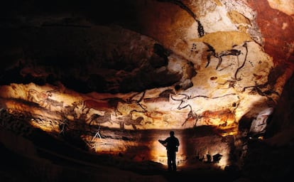
M239 106L239 96L225 92L221 93L221 97L202 97L201 95L195 97L195 92L190 90L190 94L174 95L173 100L157 97L141 100L141 97L138 97L137 100L131 101L129 98L133 97L130 94L121 101L118 95L96 94L95 96L99 99L94 100L93 97L82 96L72 91L49 94L48 90L53 90L53 87L48 85L45 87L33 84L3 86L1 90L1 97L16 98L15 100L6 99L4 102L6 108L11 112L31 114L33 118L28 122L33 127L55 134L64 132L60 124L65 121L75 127L85 127L75 128L80 129L81 132L83 129L89 129L89 125L104 127L107 128L107 137L104 137L102 134L104 131L100 130L96 133L91 131L92 134L84 131L85 134L78 137L85 141L90 151L97 154L119 155L135 161L151 160L165 166L167 165L166 149L158 142L158 139L166 139L169 137L170 129L173 129L177 131L175 135L180 140L177 152L178 166L202 164L207 161L207 154L211 156L221 154L222 158L218 162L209 161L209 163L224 168L229 164L231 149L221 141L220 136L235 136L238 133L239 123L236 113L249 112L248 107L238 107L234 112L234 107ZM105 98L117 99L116 107L113 105L110 107ZM254 101L260 101L258 98L260 99L255 97ZM85 100L91 100L92 105L86 105ZM242 102L245 105L251 105L250 100L242 100ZM265 114L268 116L268 112ZM266 118L263 115L256 121L263 122ZM219 135L190 139L190 136L183 132L185 129L204 125L218 129ZM136 131L136 134L143 136L145 141L141 141L140 137L121 139L119 137L122 136L119 134L116 136L113 129L119 129L121 134ZM67 130L69 131L70 129ZM202 161L197 161L197 157L200 157Z

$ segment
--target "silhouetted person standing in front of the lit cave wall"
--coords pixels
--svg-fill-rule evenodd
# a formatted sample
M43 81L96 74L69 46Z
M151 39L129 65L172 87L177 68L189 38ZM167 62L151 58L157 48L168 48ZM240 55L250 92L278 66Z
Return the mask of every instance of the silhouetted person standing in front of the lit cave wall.
M175 137L175 132L170 131L170 137L165 140L158 139L160 144L163 144L166 147L168 154L168 171L177 171L177 164L175 161L175 152L178 151L178 146L180 142L177 137Z

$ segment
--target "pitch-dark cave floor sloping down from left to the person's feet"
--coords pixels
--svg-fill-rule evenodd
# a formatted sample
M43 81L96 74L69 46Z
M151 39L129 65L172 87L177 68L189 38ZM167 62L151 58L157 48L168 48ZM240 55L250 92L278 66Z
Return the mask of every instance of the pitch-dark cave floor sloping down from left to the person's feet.
M179 166L178 171L171 173L166 166L152 161L134 162L119 156L91 154L40 130L26 139L13 139L12 133L2 129L0 132L2 139L6 139L0 142L0 181L160 182L236 181L241 178L239 172L220 170L212 164Z

